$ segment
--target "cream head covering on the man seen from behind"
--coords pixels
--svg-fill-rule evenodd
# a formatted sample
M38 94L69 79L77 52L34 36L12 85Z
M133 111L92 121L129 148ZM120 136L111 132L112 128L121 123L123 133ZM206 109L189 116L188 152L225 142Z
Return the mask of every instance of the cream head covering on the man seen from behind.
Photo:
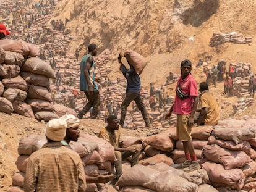
M66 136L67 122L63 119L51 119L46 125L45 135L53 141L62 141Z

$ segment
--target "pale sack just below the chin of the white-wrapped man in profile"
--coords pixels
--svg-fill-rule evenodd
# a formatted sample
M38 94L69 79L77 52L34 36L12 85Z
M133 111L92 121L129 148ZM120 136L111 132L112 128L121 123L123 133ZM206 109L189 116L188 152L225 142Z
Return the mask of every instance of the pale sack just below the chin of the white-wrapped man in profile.
M69 145L80 157L87 156L94 150L99 151L98 143L95 141L88 141L83 137L79 137L77 142L70 141Z

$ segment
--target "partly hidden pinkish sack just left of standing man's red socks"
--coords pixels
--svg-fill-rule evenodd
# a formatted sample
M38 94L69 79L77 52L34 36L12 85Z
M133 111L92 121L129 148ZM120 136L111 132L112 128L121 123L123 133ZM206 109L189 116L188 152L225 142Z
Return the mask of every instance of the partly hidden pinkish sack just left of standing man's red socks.
M165 164L168 164L168 165L174 164L173 159L166 156L166 154L156 154L153 157L142 159L139 161L139 164L147 166L147 165L155 165L161 162L164 162Z

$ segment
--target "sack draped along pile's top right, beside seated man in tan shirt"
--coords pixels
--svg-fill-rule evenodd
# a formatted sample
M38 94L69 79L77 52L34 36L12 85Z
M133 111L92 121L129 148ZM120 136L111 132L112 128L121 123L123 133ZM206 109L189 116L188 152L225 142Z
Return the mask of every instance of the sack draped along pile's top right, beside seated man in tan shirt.
M98 138L97 136L92 136L89 134L80 134L82 138L85 138L88 141L93 141L98 143L99 154L104 161L116 161L116 156L114 154L114 147L108 143L108 141Z

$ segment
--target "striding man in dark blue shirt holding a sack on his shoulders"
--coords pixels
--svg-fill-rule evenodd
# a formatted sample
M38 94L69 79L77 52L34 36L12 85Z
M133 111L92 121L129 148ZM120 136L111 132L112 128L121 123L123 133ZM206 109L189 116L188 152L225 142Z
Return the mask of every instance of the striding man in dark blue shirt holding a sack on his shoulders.
M126 84L126 98L122 101L121 105L121 117L119 125L124 126L124 119L126 118L127 107L130 102L135 101L137 107L142 112L143 119L146 123L146 127L150 127L150 120L148 118L148 112L146 107L143 104L142 97L140 95L141 83L140 83L140 75L137 74L134 70L134 67L127 62L124 54L121 52L118 56L118 62L120 65L120 70L124 77L127 79ZM126 63L124 63L126 62ZM129 64L126 68L125 65Z

